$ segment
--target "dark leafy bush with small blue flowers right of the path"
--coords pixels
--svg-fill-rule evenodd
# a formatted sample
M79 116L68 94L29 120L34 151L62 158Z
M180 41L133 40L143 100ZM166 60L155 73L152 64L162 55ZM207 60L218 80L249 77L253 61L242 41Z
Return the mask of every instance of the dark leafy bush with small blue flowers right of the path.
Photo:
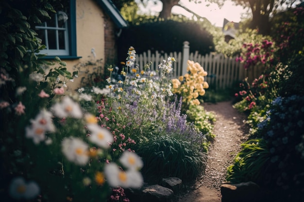
M263 143L253 145L255 140L250 140L247 143L251 144L243 145L235 164L230 167L229 180L253 180L261 186L271 187L273 193L284 193L274 200L303 200L303 101L304 97L298 95L279 96L273 100L253 133Z

